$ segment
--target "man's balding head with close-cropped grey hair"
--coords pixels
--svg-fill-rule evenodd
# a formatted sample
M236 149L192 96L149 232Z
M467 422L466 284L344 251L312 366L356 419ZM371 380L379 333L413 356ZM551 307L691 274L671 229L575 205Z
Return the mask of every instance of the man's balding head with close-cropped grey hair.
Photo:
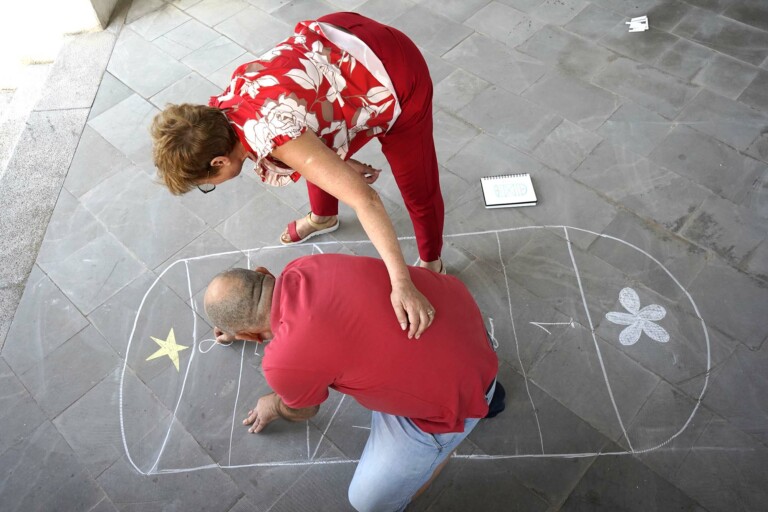
M275 278L234 268L213 278L205 292L205 312L227 334L269 327Z

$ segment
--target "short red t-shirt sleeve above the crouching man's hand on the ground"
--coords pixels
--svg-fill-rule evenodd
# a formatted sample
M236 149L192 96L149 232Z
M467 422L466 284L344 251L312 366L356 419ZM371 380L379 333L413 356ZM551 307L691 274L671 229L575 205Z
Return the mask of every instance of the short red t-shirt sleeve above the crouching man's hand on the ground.
M272 391L292 409L313 407L328 398L328 386L333 379L322 372L285 368L264 368L264 377Z

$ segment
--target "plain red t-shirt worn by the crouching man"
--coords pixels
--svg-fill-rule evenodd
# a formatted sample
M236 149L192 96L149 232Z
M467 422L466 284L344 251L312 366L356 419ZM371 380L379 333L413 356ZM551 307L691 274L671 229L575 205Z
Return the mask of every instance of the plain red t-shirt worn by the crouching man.
M323 254L285 268L262 369L288 407L318 405L330 387L433 434L462 432L465 419L486 415L498 360L477 304L455 277L409 270L437 310L418 340L400 329L381 260Z

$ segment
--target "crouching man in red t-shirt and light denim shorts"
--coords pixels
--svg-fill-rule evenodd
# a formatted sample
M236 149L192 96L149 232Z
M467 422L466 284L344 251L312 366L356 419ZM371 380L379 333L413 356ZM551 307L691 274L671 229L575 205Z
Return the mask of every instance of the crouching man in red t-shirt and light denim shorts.
M419 339L408 339L392 317L389 275L378 259L306 256L277 278L262 267L232 269L205 294L220 341L271 340L262 369L274 392L248 412L250 432L278 418L313 417L328 388L372 411L349 486L359 511L405 509L480 418L504 407L498 359L472 295L453 276L409 271L435 307Z

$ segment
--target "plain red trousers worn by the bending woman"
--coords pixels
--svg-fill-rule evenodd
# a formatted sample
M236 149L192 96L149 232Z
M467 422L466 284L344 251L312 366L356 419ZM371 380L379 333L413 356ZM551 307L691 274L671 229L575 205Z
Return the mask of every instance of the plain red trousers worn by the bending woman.
M411 216L419 257L434 261L443 247L444 207L432 136L432 79L427 63L405 34L359 14L329 14L318 21L352 32L387 70L401 113L394 126L379 136L381 149ZM338 214L338 199L310 182L307 189L315 215Z

